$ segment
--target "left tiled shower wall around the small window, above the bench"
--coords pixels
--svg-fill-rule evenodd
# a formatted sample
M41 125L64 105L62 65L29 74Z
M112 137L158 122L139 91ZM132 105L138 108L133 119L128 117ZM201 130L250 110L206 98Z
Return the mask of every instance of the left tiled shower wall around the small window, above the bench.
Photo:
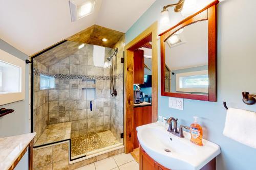
M34 68L37 70L48 72L48 68L34 61ZM36 132L35 142L38 137L42 134L48 124L48 93L49 90L40 90L40 77L34 75L34 104L33 104L33 128Z

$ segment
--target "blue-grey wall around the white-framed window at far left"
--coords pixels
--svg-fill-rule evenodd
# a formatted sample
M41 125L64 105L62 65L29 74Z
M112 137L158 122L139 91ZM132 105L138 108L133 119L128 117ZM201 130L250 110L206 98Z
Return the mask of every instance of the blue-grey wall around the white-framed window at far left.
M16 48L0 39L0 49L10 53L11 55L25 60L29 57L24 53L18 51ZM29 65L26 64L26 96L25 100L2 105L0 108L14 109L11 114L0 117L0 138L6 136L20 135L29 133ZM1 154L1 153L0 153ZM20 160L15 170L28 169L28 154Z

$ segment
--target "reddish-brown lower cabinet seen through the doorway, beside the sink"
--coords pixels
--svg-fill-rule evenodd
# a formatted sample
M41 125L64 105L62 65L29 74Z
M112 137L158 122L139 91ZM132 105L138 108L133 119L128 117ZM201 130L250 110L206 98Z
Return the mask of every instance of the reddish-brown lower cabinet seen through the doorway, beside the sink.
M135 107L134 108L134 127L133 127L133 148L139 147L139 140L137 138L138 126L152 123L152 106Z

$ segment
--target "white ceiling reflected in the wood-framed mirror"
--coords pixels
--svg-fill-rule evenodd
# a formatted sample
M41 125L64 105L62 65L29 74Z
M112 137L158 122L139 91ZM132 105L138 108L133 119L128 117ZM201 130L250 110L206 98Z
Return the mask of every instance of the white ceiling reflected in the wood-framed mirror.
M169 47L165 42L165 64L170 70L208 65L208 21L199 21L178 34L185 43Z

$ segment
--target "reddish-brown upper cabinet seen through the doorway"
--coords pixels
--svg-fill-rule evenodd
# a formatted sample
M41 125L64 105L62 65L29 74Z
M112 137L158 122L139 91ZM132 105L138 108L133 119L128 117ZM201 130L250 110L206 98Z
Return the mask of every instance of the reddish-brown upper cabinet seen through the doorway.
M133 83L144 84L144 51L134 51Z

